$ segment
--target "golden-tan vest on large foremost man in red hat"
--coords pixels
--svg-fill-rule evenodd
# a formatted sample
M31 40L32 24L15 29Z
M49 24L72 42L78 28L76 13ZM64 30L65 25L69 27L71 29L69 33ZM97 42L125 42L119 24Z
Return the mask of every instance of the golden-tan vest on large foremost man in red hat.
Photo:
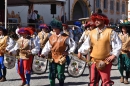
M99 38L97 37L98 32L96 29L90 32L90 41L92 44L91 57L97 60L104 60L110 55L111 51L111 33L112 29L106 28L102 33L100 33ZM98 38L98 40L97 40Z

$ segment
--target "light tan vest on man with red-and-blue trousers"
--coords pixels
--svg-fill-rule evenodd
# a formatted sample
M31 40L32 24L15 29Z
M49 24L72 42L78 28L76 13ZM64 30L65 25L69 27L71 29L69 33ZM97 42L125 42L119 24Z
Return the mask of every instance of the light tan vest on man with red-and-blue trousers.
M20 46L19 49L19 56L21 59L29 59L29 53L27 52L27 50L31 50L31 46L29 45L29 39L19 39L17 41L18 46Z

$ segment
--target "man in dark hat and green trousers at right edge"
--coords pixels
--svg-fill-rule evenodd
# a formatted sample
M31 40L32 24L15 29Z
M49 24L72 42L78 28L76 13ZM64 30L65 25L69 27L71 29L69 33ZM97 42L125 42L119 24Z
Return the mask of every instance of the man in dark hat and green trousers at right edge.
M118 69L121 74L120 82L124 84L129 84L128 78L130 73L130 22L126 21L120 24L121 33L119 37L122 41L122 50L118 58ZM125 71L125 76L123 72Z

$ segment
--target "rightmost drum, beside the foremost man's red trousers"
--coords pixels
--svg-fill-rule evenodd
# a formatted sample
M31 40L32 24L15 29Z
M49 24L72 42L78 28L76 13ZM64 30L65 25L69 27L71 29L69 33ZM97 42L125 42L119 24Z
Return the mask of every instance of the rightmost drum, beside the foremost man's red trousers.
M81 76L85 70L86 62L80 60L76 55L70 54L69 57L71 58L71 61L68 66L68 74L72 77Z

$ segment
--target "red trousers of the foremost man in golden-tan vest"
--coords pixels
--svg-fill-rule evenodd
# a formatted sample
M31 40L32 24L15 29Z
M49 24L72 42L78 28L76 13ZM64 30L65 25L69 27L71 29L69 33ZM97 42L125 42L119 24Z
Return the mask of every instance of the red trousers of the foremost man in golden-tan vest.
M110 80L110 71L112 64L106 65L104 70L98 70L93 63L90 66L90 83L89 86L99 86L99 80L102 79L102 86L112 86L113 81Z

